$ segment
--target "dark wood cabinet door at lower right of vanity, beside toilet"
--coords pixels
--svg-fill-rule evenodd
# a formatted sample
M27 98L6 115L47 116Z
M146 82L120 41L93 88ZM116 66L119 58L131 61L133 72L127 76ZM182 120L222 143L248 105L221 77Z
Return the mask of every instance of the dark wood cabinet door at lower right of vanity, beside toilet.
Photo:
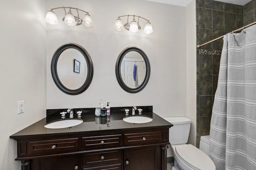
M160 146L124 150L124 170L161 170Z

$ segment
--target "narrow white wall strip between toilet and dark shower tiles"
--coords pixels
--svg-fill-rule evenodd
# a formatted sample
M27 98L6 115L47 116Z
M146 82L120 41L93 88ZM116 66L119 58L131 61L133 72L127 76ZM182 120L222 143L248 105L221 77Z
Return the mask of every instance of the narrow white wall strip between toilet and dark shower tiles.
M188 143L196 146L196 0L186 6L186 117L192 120Z

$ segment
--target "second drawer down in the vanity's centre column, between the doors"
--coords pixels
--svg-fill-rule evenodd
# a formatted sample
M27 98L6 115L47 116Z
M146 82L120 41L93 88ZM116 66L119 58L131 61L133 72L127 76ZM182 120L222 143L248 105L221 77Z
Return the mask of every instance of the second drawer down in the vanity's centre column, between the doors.
M118 164L122 162L121 150L83 154L83 166Z

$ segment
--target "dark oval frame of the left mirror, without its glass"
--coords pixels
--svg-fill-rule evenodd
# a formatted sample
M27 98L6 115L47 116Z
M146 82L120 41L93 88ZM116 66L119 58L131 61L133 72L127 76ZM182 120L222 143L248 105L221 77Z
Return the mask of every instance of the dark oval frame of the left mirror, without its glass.
M80 88L74 89L74 90L68 89L61 83L60 78L58 76L58 71L57 71L57 63L58 63L58 59L59 59L61 53L64 50L69 49L69 48L74 48L74 49L77 49L78 51L80 51L80 53L82 53L82 55L84 56L84 59L87 63L86 80ZM52 73L52 79L54 80L54 83L62 92L69 94L69 95L78 95L80 93L83 93L89 87L90 83L92 82L92 77L93 77L92 59L91 59L89 53L81 45L76 44L76 43L65 43L65 44L61 45L60 47L58 47L58 49L54 52L54 55L52 56L51 73Z

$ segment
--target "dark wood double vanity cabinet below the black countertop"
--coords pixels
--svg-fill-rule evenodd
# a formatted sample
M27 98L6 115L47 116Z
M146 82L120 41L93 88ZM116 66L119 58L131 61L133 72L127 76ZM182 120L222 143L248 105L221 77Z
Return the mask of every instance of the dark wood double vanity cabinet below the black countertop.
M169 127L14 137L22 170L166 170Z

